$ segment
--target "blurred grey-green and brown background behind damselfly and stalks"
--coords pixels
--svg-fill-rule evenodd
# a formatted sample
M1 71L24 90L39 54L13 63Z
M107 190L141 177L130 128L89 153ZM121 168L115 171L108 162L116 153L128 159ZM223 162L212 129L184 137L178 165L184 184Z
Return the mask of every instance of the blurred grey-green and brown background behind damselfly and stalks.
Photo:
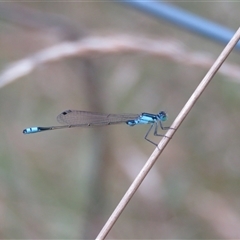
M239 27L239 3L174 5ZM33 135L24 128L59 125L67 109L165 110L169 126L224 47L117 2L1 3L0 76L62 42L118 35L180 50L169 46L172 58L140 50L59 58L0 89L0 238L96 237L154 149L144 140L149 126ZM239 56L232 52L226 64L239 65ZM240 237L240 77L232 73L217 73L107 238Z

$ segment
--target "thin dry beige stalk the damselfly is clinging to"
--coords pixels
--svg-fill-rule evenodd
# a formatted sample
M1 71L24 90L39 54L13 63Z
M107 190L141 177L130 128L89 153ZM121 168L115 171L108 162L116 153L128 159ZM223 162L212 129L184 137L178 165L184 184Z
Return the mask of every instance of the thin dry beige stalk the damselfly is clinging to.
M233 50L234 46L237 44L237 42L240 39L240 28L237 30L237 32L234 34L230 42L227 44L227 46L224 48L222 53L219 55L217 60L214 62L210 70L207 72L206 76L202 79L196 90L193 92L192 96L189 98L183 109L180 111L178 116L176 117L175 121L173 122L171 129L169 129L166 133L166 137L162 138L160 141L158 147L153 151L152 155L147 160L146 164L138 174L138 176L133 181L132 185L129 187L121 201L119 202L118 206L113 211L112 215L109 217L108 221L98 234L96 239L104 239L121 213L123 212L124 208L134 195L134 193L137 191L138 187L144 180L144 178L147 176L148 172L154 165L154 163L157 161L158 157L164 150L164 148L167 146L168 142L174 135L174 133L179 128L180 124L183 122L183 120L186 118L187 114L190 112L190 110L193 108L194 104L196 103L197 99L200 97L200 95L203 93L207 85L212 80L213 76L217 73L218 69L221 67L223 62L226 60L230 52Z

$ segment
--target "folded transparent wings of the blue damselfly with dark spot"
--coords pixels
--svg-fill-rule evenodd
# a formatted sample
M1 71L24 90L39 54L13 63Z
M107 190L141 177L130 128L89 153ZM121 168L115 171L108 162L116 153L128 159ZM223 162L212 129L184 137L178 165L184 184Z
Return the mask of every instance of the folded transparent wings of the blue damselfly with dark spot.
M88 127L125 123L128 120L134 120L138 117L139 114L102 114L67 110L57 116L57 121L61 124Z

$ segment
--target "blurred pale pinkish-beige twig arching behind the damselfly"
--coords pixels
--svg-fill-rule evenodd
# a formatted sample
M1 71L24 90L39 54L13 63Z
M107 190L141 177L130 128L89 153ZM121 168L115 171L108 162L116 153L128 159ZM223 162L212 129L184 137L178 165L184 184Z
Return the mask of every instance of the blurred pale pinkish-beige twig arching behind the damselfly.
M56 44L10 64L0 73L0 87L31 73L41 64L76 56L86 57L93 54L125 52L147 53L201 68L209 68L214 62L214 57L210 56L209 53L192 52L183 44L174 40L149 39L126 35L92 36L79 41ZM225 63L219 72L234 78L232 81L240 82L240 68L235 64Z

